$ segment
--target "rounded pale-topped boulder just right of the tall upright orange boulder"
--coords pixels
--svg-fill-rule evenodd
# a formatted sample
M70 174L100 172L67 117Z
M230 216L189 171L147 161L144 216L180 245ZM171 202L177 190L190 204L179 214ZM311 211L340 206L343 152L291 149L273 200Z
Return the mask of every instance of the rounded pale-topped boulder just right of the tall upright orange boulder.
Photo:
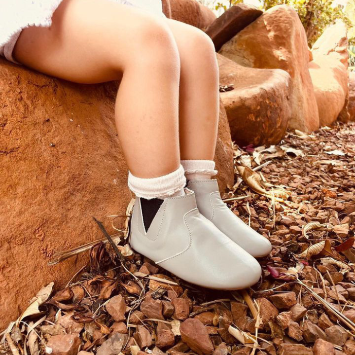
M346 67L336 58L317 56L309 62L319 125L330 126L338 118L348 95Z

